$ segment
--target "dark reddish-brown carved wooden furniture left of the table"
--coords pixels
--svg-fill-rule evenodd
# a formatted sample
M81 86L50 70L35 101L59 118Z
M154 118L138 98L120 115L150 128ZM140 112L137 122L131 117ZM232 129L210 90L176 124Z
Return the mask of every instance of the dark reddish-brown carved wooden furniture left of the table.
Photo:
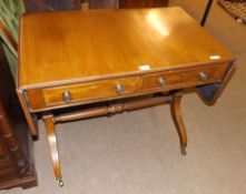
M0 43L0 188L36 186L28 124Z

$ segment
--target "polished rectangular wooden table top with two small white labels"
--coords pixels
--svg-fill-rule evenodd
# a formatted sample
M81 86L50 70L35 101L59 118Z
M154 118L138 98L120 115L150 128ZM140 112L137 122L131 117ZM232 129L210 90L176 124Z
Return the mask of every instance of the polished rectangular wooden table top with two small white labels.
M177 7L28 13L20 23L18 88L229 60Z

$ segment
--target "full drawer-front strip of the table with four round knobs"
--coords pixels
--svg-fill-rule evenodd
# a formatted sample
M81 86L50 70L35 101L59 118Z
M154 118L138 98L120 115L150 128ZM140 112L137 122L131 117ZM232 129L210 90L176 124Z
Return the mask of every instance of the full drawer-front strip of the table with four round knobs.
M28 90L32 111L154 93L222 81L228 64L209 64L144 75Z

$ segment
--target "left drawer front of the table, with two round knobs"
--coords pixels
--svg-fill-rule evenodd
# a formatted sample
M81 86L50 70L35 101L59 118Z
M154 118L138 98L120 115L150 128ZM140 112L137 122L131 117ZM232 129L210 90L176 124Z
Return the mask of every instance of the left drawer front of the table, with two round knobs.
M94 81L63 86L28 91L32 110L60 106L86 101L106 100L135 93L140 84L139 76Z

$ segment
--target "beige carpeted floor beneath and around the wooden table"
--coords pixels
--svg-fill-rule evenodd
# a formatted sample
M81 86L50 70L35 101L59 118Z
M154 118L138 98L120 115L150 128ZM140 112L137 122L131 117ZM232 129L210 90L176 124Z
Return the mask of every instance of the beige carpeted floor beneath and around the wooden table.
M197 20L206 1L173 0ZM206 29L238 57L219 102L183 101L188 155L179 154L169 106L57 125L65 187L53 178L43 123L35 143L39 186L0 194L245 194L246 25L215 3Z

